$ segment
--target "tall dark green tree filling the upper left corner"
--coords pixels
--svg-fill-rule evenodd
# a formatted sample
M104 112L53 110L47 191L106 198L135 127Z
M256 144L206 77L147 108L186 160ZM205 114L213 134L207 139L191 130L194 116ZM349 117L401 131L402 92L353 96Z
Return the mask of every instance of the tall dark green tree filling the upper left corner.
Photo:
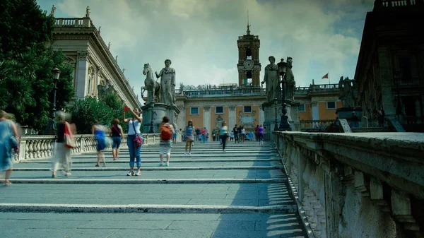
M44 131L51 112L51 71L61 70L57 82L57 109L73 96L72 72L61 51L45 45L52 40L54 18L35 0L0 1L0 108L15 114L23 125Z

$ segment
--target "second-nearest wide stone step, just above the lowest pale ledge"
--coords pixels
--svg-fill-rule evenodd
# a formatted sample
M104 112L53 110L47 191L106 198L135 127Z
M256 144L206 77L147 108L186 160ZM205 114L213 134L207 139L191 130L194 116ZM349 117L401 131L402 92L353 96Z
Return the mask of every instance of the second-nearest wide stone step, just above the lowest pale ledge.
M73 182L71 180L57 180L57 182L60 181ZM134 182L137 181L134 180ZM28 192L17 193L17 191L23 189ZM2 202L0 206L4 203L13 203L16 206L26 203L39 203L40 208L37 208L39 210L30 211L41 211L40 209L47 204L60 205L57 207L58 210L47 210L56 212L63 212L64 204L74 204L81 207L86 204L90 205L86 208L93 209L93 211L98 209L94 208L93 205L100 205L103 208L107 205L120 205L124 208L124 206L131 204L139 204L140 206L254 206L255 208L286 206L285 208L295 208L295 202L290 197L287 186L282 184L281 181L279 183L263 181L245 184L13 184L10 193L1 194L0 198ZM13 210L13 208L10 208L13 206L11 204L8 204L7 208ZM161 206L161 208L163 207ZM22 210L23 208L18 209ZM188 212L189 207L186 207L185 210ZM112 210L103 212L112 212ZM114 208L113 212L119 212L119 208ZM213 213L213 210L208 212ZM239 212L245 211L240 209ZM250 212L254 211L250 210Z

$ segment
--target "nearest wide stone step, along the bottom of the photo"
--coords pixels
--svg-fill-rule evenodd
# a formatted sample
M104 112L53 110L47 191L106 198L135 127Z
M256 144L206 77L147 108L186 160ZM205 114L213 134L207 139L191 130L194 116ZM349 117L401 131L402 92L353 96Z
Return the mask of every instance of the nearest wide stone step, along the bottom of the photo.
M0 213L0 224L20 238L305 237L295 213Z

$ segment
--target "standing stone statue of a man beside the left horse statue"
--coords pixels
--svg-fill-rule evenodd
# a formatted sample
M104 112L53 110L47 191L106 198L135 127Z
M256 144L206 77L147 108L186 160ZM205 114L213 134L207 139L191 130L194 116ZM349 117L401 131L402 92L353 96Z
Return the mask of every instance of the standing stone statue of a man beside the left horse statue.
M165 105L175 104L175 69L170 68L170 59L165 59L165 68L155 72L156 78L160 78L160 102Z

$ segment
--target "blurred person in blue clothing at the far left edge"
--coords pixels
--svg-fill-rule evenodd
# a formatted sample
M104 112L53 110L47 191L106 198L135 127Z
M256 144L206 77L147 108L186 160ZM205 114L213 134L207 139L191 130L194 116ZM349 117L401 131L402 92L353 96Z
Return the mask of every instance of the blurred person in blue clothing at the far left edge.
M18 148L18 129L13 121L6 119L7 113L0 110L0 172L4 172L4 186L11 186L9 178L13 171L12 149Z

